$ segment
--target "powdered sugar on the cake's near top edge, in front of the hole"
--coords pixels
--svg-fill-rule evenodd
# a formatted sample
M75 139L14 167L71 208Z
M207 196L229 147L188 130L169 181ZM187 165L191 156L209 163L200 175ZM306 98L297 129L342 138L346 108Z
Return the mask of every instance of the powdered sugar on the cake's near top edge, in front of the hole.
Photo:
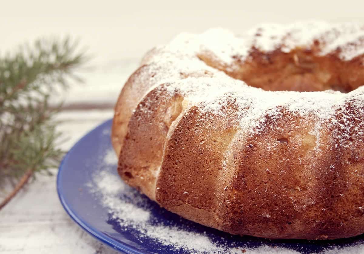
M153 87L156 90L161 88L160 86ZM161 92L161 98L163 96L171 97L178 93L189 102L190 106L197 106L202 113L209 114L211 117L227 114L221 111L221 108L233 100L241 109L237 110L237 114L241 114L238 117L240 119L239 127L251 135L263 130L267 117L278 119L282 110L300 117L302 121L313 121L314 119L316 126L311 134L316 136L317 149L320 146L322 128L333 126L338 121L345 120L345 115L338 113L345 103L350 102L351 107L355 108L352 115L357 115L357 117L364 115L363 87L347 94L332 90L324 92L278 91L272 93L249 87L244 82L219 72L215 73L213 78L189 77L171 81L163 86L163 89L165 88L166 94ZM148 108L150 108L149 104L146 104L145 109ZM350 126L344 127L341 124L341 127L343 135L354 135ZM356 123L356 132L363 131L363 123ZM340 135L335 138L338 144L343 144Z

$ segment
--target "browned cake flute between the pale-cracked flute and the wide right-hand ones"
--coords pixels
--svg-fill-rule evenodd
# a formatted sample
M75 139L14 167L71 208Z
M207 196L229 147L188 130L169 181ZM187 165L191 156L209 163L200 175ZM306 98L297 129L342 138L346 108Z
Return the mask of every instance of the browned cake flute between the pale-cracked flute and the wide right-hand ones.
M233 103L222 108L227 119L209 118L192 107L179 120L164 150L156 201L166 209L201 224L219 228L216 215L224 152L236 133ZM183 174L180 169L184 168Z

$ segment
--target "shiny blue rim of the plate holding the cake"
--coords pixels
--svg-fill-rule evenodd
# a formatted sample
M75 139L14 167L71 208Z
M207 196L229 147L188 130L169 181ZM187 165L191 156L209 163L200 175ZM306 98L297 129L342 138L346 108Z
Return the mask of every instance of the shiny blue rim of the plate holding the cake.
M100 242L104 243L105 245L111 247L114 250L123 251L124 253L130 253L130 254L144 254L145 252L140 252L135 247L128 245L127 243L118 242L110 237L108 237L106 234L100 232L99 230L96 230L94 227L92 227L89 223L84 222L82 219L79 218L78 214L72 210L71 206L68 205L67 199L63 196L63 190L61 187L61 180L62 180L62 172L64 170L64 165L67 162L67 160L70 157L70 154L72 151L74 151L80 144L83 142L84 139L88 138L88 136L94 134L95 132L98 132L100 129L104 128L106 125L110 124L112 122L112 118L104 121L103 123L99 124L92 130L88 131L85 135L82 136L73 146L72 148L64 155L61 163L58 167L58 173L57 173L57 193L59 201L63 207L63 209L66 211L66 213L71 217L71 219L76 222L84 231L86 231L88 234L92 235L94 238L99 240Z

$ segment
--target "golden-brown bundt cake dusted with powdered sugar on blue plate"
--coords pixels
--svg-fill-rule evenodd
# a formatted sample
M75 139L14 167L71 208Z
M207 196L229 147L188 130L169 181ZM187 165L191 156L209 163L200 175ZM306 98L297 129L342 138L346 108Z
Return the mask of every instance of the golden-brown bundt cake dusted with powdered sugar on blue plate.
M167 210L231 234L362 234L363 84L363 25L181 34L121 91L118 172Z

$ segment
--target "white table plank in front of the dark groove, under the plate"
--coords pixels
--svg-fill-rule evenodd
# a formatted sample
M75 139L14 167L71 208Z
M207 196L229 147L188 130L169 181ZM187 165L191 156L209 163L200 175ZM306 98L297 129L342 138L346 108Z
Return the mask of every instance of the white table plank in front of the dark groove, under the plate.
M69 149L92 128L112 117L111 110L61 112L58 130L69 136ZM83 231L64 211L54 176L37 174L3 210L0 210L0 253L115 254Z

